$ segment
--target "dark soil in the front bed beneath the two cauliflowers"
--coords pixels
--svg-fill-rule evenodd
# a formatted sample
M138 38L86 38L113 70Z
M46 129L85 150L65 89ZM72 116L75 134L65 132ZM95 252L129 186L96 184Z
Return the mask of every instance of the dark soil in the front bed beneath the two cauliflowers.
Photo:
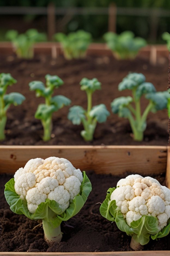
M125 175L126 176L126 175ZM4 184L12 175L0 175L0 251L14 252L104 252L131 251L130 236L121 232L115 223L109 222L99 214L100 204L107 189L114 187L123 177L97 175L88 172L93 192L81 211L66 223L62 222L63 238L60 243L48 246L44 241L42 226L33 229L37 222L25 216L14 214L4 197ZM165 173L155 177L165 185ZM105 181L105 182L103 182ZM69 225L69 226L68 226ZM70 227L72 226L72 227ZM151 240L144 250L169 250L169 235Z

